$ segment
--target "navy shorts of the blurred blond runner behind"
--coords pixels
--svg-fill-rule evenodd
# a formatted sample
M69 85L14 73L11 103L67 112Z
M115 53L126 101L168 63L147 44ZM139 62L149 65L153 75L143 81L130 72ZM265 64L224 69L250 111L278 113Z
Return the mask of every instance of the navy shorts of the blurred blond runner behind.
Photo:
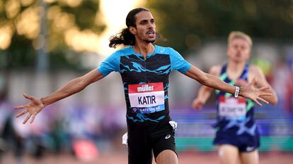
M258 130L256 131L254 136L250 134L228 134L226 132L217 132L216 137L214 139L215 145L229 144L232 146L236 146L239 149L239 152L251 152L258 149L260 146L260 135Z

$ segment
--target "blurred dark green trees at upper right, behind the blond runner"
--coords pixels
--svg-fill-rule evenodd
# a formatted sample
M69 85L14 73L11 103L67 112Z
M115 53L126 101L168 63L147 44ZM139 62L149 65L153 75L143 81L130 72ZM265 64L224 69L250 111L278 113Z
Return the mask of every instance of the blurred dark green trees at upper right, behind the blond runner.
M226 39L232 30L256 38L293 37L290 0L150 0L159 32L180 52L196 50L206 39Z

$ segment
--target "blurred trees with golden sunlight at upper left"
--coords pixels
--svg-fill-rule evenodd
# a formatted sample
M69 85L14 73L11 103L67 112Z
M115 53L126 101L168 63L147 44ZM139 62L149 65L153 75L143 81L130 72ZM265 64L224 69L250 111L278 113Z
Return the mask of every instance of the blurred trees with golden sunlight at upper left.
M31 67L40 51L51 68L76 67L76 52L93 51L82 44L83 38L97 38L105 29L99 4L99 0L0 1L0 68Z

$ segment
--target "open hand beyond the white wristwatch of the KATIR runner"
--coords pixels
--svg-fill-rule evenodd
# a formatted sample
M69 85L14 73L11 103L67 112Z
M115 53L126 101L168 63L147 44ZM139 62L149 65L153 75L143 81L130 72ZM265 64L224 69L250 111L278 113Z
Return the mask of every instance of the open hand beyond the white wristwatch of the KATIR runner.
M255 82L256 80L253 79L252 82L249 82L243 87L241 96L253 100L258 106L263 106L259 101L263 101L264 103L268 103L268 101L265 101L265 99L262 99L260 96L271 96L272 94L265 92L265 90L270 89L270 87L255 88Z

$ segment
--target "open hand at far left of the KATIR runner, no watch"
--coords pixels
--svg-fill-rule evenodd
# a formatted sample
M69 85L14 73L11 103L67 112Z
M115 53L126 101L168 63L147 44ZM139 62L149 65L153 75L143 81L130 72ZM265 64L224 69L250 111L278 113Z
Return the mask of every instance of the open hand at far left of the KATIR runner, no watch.
M30 119L30 123L33 123L33 120L35 120L35 115L40 113L40 111L42 111L42 108L44 108L45 106L40 99L37 99L34 96L28 96L26 94L23 94L23 96L30 102L23 106L14 107L14 109L25 109L25 111L18 113L18 115L16 115L16 118L24 115L25 113L28 113L25 120L23 120L23 124L25 124L30 119L30 117L32 117L32 119Z

